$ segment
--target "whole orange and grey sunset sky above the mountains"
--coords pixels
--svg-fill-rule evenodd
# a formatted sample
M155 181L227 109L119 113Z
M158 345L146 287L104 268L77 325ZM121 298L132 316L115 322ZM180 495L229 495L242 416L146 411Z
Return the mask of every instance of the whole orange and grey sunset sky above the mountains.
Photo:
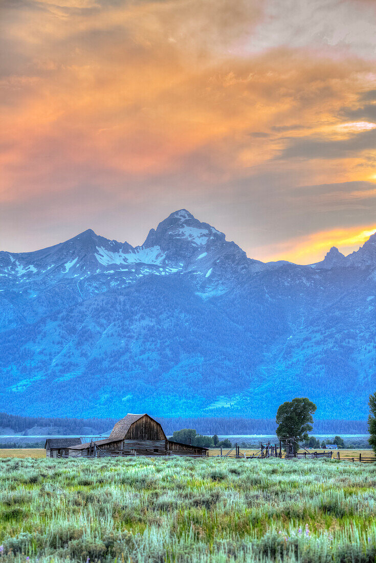
M376 230L374 0L2 0L0 249L188 209L262 261Z

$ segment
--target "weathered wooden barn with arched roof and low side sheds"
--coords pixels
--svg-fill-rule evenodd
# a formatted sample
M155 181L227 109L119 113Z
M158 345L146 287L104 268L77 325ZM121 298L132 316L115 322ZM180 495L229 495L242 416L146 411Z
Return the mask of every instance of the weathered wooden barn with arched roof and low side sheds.
M64 439L61 439L64 440ZM66 439L69 440L69 439ZM116 457L118 455L189 455L206 457L207 448L178 444L167 439L162 426L149 414L127 414L113 427L105 440L75 444L61 444L60 451L51 457ZM48 442L48 440L47 440ZM47 453L46 442L46 455ZM50 452L53 448L49 445ZM56 448L55 448L56 449Z

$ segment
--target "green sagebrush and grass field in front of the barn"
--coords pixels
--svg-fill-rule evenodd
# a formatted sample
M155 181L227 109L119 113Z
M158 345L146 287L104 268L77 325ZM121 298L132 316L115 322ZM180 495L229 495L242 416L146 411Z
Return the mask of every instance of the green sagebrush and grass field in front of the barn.
M329 460L1 459L0 563L371 563L375 468Z

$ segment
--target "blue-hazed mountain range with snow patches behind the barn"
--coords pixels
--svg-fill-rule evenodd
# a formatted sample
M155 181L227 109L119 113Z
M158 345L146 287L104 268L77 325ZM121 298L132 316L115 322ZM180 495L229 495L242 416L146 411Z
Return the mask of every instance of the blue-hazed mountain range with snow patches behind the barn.
M376 234L310 266L247 257L185 209L142 246L92 230L0 252L0 403L12 414L365 419Z

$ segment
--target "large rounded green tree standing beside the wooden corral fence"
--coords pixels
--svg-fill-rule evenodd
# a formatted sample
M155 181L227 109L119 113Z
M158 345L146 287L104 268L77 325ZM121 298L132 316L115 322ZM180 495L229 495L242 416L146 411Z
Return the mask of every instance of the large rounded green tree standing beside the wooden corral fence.
M312 430L312 413L316 410L315 403L307 397L296 397L286 401L277 410L276 423L279 425L276 434L281 438L308 440L308 432Z

